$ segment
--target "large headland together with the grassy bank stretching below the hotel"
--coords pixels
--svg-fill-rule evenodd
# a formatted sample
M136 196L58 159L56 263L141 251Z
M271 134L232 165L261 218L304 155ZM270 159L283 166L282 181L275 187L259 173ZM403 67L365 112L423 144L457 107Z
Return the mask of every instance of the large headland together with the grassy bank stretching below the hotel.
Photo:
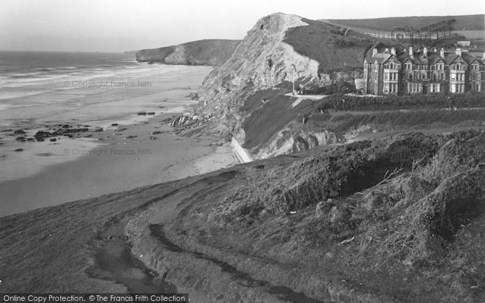
M483 126L480 95L355 95L373 47L387 45L324 21L263 17L206 77L191 116L172 124L187 135L233 136L260 159L409 129L446 133ZM459 113L448 111L450 104Z

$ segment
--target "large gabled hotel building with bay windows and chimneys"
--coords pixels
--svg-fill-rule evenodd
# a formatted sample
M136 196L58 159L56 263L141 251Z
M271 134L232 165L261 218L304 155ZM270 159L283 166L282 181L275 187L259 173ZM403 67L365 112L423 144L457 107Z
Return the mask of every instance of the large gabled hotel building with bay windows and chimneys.
M482 91L485 85L483 58L460 48L454 52L413 50L400 55L396 49L372 49L364 59L363 93L374 95L412 93L464 93Z

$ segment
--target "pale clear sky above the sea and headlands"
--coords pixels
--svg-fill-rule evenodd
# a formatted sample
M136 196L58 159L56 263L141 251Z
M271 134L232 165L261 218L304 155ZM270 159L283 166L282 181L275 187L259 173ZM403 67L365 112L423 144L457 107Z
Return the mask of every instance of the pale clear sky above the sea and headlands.
M261 17L309 19L484 14L466 0L2 0L0 50L122 52L199 39L243 39ZM405 5L407 3L407 5Z

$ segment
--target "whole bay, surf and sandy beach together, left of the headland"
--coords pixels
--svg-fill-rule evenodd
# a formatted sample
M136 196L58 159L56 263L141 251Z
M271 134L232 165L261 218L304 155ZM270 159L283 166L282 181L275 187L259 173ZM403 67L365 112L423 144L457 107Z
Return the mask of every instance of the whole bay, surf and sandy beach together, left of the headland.
M8 55L12 66L0 73L0 217L236 163L229 145L175 136L166 123L197 102L189 95L211 67L98 53L0 52L1 64Z

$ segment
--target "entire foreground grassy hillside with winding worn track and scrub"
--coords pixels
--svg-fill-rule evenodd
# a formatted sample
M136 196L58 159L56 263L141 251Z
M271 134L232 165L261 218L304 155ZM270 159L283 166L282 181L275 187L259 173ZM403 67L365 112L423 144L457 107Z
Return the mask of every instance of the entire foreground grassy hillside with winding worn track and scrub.
M484 151L403 134L2 217L0 289L484 302Z

